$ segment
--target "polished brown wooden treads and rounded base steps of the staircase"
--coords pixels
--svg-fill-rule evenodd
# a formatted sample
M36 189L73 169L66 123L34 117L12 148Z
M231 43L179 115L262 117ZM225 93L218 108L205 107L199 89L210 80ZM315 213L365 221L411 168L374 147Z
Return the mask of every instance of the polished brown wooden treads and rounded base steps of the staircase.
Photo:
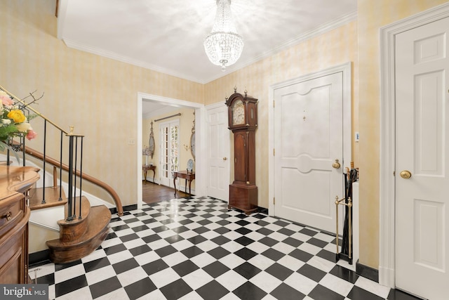
M104 205L91 207L88 199L81 197L81 219L76 216L72 221L67 221L67 200L62 196L60 200L59 188L45 188L46 203L42 204L41 188L37 188L29 198L31 210L45 209L59 205L65 206L65 219L58 221L60 237L46 242L50 249L50 260L54 263L69 263L87 256L97 249L109 233L109 221L111 212ZM75 201L79 207L79 197Z

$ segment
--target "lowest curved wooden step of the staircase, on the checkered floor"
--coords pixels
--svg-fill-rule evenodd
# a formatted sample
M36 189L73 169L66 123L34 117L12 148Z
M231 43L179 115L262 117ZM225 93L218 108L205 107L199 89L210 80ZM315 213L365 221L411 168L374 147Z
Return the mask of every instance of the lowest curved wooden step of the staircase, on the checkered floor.
M97 249L109 233L111 212L104 205L91 207L85 223L86 231L73 240L60 239L46 242L50 259L54 263L69 263L87 256Z

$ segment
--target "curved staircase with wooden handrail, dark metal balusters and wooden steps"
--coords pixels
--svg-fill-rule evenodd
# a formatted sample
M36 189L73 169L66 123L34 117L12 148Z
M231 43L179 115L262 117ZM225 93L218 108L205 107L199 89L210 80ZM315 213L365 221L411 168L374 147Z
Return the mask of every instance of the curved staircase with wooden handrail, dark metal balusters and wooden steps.
M35 159L33 163L43 171L44 175L41 178L41 183L39 183L43 188L33 188L30 192L34 193L27 195L27 198L29 208L32 211L42 209L39 212L35 212L34 216L39 216L41 220L48 223L40 223L43 228L48 227L52 230L57 230L56 223L58 223L60 237L46 242L50 249L50 259L55 263L68 263L81 259L97 249L101 242L105 240L109 232L109 221L111 220L111 212L105 205L91 207L86 197L80 197L80 195L83 195L81 183L88 181L98 188L107 191L116 204L116 213L122 216L123 207L120 197L107 183L83 173L84 136L74 133L73 126L69 126L69 131L66 131L37 110L34 110L31 104L39 100L39 98L36 99L33 93L30 93L32 101L27 104L1 85L0 91L6 93L27 117L34 117L30 114L35 114L36 118L34 118L33 122L42 122L41 128L43 128L43 132L39 133L39 138L42 138L43 142L41 152L29 148L25 144L25 133L18 131L13 138L8 138L6 141L6 146L8 147L6 164L11 164L11 150L11 153L15 154L14 157L18 164L22 164L25 167L27 165L26 158L33 157ZM51 126L52 134L47 134L47 126ZM59 132L60 134L53 134L54 132ZM46 155L47 148L54 153L58 153L59 159ZM21 152L22 162L20 162L20 157L16 152ZM84 159L86 159L86 156L84 156ZM91 157L91 159L95 158ZM48 166L53 166L53 176L46 176L51 168ZM63 171L66 175L62 174ZM51 183L46 183L47 177L53 177L53 186L50 188L46 188L48 185L51 185ZM67 184L67 200L65 195L60 193L62 178L67 178L67 183L65 183L65 185ZM62 205L65 206L65 210L58 207ZM79 211L80 205L81 212ZM64 219L56 221L59 217Z

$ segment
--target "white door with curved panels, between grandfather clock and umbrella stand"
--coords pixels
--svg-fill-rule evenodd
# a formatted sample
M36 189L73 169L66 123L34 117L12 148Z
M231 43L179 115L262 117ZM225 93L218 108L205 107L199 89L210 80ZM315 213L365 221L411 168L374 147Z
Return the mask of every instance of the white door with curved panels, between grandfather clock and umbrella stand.
M344 166L332 167L343 160L342 78L336 72L274 90L275 214L333 233L335 196L344 195Z

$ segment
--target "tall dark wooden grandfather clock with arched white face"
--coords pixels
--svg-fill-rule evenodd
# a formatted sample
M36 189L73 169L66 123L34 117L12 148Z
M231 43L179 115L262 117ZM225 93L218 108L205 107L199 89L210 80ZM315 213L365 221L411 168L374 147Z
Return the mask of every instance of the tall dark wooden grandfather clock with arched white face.
M226 100L229 129L234 133L234 182L229 185L229 204L250 214L257 210L255 185L255 129L257 99L236 92Z

